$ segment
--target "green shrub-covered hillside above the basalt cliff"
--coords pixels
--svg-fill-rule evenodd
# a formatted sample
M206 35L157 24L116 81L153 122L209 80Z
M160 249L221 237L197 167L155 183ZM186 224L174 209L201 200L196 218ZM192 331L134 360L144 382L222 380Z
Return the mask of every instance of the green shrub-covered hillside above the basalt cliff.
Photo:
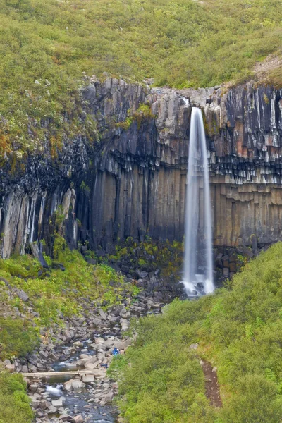
M0 0L0 154L48 135L55 159L63 135L97 138L83 72L174 87L250 78L280 54L281 15L280 0Z

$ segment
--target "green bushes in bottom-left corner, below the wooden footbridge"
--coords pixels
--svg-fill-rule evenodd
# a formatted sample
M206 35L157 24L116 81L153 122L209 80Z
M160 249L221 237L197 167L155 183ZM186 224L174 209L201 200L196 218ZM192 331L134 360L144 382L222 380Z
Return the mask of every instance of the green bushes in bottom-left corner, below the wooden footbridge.
M0 423L31 423L30 398L20 374L0 372Z

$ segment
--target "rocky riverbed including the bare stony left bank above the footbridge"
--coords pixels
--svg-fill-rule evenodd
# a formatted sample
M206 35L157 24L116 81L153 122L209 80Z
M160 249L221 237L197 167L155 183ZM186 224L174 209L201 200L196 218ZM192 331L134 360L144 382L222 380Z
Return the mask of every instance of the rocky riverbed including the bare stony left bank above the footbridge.
M114 348L123 354L130 345L125 333L131 317L159 313L163 305L145 294L106 311L85 302L85 316L69 319L63 329L42 331L36 353L13 364L6 362L17 372L54 372L54 376L26 379L35 421L118 422L118 410L112 405L118 386L106 373ZM80 374L64 375L78 370Z

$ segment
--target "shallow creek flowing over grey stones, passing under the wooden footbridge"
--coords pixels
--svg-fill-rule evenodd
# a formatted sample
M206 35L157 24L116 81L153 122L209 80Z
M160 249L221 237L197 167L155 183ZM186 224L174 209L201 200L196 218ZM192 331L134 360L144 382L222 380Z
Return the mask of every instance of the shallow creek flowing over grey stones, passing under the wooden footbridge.
M123 308L119 314L101 309L98 321L97 315L92 314L78 336L73 336L64 345L55 345L51 354L43 360L40 371L56 372L56 375L28 379L35 421L117 423L118 410L112 400L118 386L106 374L114 348L118 348L122 354L130 344L130 339L123 333L128 329L131 317L157 314L163 305L154 303L150 298L142 298L128 309ZM118 314L116 319L114 314ZM95 328L91 323L93 319L98 323ZM65 374L77 370L87 370L87 374ZM57 375L58 372L62 375Z

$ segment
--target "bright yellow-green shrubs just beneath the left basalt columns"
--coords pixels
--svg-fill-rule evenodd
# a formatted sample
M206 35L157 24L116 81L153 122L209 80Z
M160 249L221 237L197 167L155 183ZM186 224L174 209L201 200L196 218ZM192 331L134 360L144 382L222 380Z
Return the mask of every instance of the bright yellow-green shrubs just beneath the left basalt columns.
M123 276L105 264L93 266L83 259L77 250L64 250L58 262L46 257L50 269L38 276L41 266L30 255L0 260L0 275L11 286L23 289L29 295L33 309L39 313L39 324L58 321L59 316L72 316L80 312L80 298L106 301L113 305L121 301L121 292L133 285L125 284ZM63 264L62 271L58 264ZM17 298L14 305L20 309L22 300Z

